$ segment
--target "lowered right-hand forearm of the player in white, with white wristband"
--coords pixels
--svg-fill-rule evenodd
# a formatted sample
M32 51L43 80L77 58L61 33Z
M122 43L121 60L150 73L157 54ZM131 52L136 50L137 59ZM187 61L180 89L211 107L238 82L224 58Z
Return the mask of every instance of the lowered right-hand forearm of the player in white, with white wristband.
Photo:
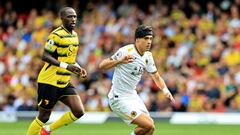
M162 77L159 75L159 73L156 71L154 73L151 73L151 77L153 78L154 82L156 83L156 85L158 86L159 89L161 89L164 93L164 95L172 102L175 103L175 100L172 96L172 94L170 93L170 91L168 90L164 80L162 79Z

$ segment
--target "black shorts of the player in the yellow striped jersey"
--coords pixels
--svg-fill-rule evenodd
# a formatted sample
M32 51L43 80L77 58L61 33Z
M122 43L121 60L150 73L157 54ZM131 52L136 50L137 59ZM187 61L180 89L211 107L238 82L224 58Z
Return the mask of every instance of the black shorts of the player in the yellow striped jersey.
M70 83L64 88L38 83L38 107L52 109L58 100L69 95L77 95Z

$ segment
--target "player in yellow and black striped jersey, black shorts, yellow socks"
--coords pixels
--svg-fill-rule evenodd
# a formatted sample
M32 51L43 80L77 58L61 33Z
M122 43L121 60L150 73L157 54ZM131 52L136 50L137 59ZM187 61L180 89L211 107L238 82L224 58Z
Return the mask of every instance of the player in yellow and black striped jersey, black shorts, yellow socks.
M83 104L70 83L72 73L86 77L87 72L76 63L79 39L74 27L77 14L71 7L59 11L62 25L51 32L44 47L42 60L45 65L38 76L39 115L28 128L27 135L50 135L55 129L68 125L84 114ZM45 125L57 101L63 102L71 111L56 122Z

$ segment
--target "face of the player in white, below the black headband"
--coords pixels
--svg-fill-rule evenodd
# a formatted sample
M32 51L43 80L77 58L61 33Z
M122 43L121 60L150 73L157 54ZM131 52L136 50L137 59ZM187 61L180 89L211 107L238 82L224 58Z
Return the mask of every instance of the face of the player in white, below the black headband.
M144 38L140 38L140 40L139 40L140 50L142 50L143 52L149 51L151 49L152 39L153 39L153 36L150 36L150 35L145 36Z

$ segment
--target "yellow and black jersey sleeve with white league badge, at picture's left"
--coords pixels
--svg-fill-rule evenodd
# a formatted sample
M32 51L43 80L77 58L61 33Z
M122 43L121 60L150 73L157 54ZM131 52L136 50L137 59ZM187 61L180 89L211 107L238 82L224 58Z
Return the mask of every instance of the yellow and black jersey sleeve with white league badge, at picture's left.
M53 53L57 49L59 41L60 37L54 33L51 33L48 36L47 42L45 43L44 50L49 53Z

